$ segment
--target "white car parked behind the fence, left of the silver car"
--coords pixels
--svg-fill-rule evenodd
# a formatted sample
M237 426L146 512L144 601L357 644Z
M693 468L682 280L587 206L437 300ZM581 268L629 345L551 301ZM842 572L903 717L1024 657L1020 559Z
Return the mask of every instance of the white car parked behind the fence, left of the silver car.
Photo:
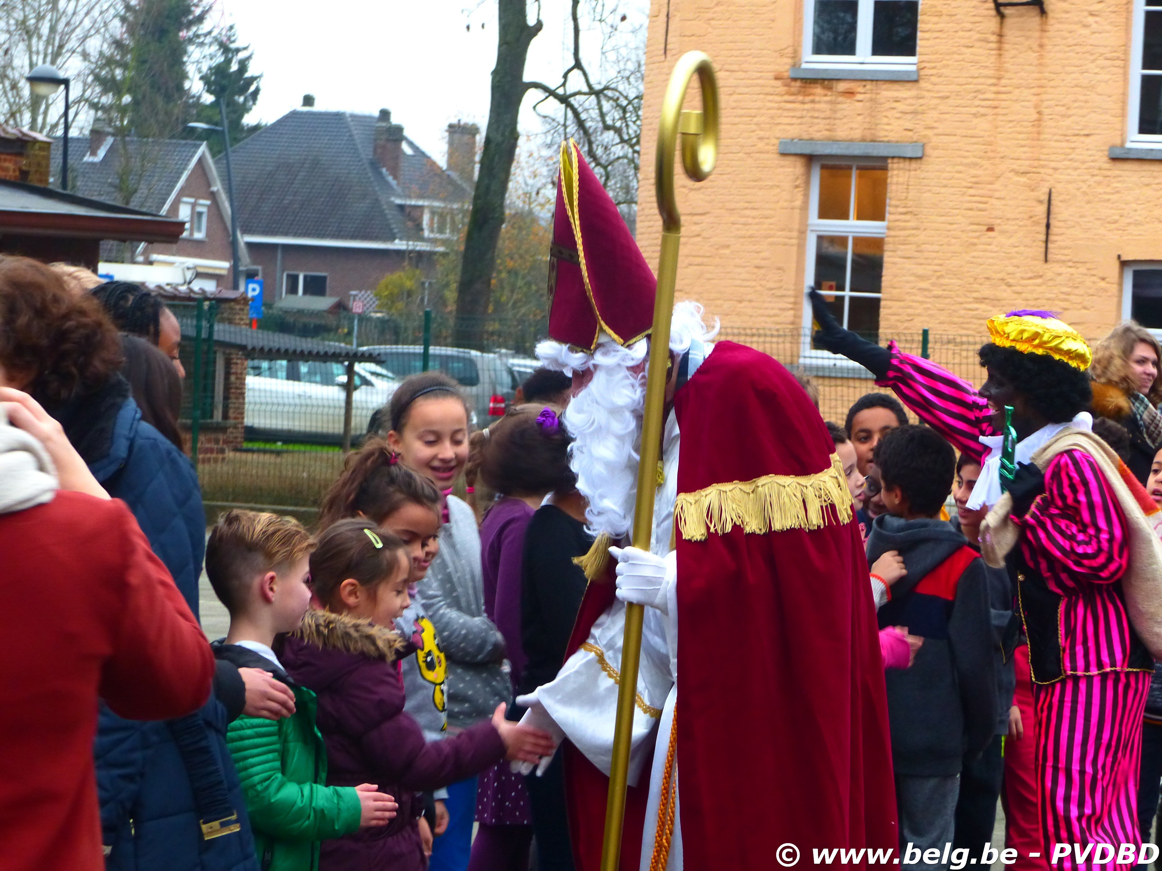
M346 363L331 360L249 360L246 438L338 444L343 439ZM375 363L356 363L351 432L358 439L400 382Z

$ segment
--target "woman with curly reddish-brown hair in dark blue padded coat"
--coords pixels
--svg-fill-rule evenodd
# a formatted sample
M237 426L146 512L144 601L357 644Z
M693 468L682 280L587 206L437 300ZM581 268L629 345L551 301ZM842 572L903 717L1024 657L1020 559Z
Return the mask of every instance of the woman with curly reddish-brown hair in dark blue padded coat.
M31 394L56 418L93 477L132 512L196 617L206 547L198 476L181 451L142 419L122 362L117 331L96 300L73 295L44 264L0 257L0 387ZM60 534L67 542L69 531ZM231 837L195 848L199 871L257 871L225 746L228 721L248 704L245 682L253 679L220 664L214 696L180 720L127 720L102 705L93 751L108 868L143 855L155 857L156 868L191 868L186 845L201 843L200 821L209 819L192 792L193 775L229 802L241 825ZM284 698L281 689L278 694Z

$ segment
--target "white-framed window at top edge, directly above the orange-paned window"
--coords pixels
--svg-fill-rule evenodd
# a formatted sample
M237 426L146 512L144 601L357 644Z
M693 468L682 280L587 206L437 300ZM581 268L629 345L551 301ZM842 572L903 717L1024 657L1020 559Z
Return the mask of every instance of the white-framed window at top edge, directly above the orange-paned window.
M803 66L916 69L919 0L804 0Z

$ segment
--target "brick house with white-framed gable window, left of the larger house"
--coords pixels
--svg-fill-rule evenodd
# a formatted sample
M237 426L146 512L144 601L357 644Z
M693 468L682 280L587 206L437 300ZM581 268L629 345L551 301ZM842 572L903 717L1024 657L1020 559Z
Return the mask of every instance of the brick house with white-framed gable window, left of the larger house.
M52 143L50 167L53 177L60 171L59 138ZM69 137L69 188L81 196L186 222L186 232L174 244L127 247L103 242L102 261L185 266L196 273L194 287L234 287L225 174L218 175L206 143L117 137L94 124L87 137ZM244 244L239 258L245 267Z

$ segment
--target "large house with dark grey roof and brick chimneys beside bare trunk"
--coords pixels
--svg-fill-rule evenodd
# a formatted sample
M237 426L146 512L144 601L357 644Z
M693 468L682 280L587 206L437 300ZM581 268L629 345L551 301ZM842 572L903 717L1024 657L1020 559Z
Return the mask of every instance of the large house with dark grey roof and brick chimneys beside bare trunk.
M472 202L478 128L449 124L440 166L387 109L303 103L234 150L239 223L265 302L346 302L393 272L432 272Z

